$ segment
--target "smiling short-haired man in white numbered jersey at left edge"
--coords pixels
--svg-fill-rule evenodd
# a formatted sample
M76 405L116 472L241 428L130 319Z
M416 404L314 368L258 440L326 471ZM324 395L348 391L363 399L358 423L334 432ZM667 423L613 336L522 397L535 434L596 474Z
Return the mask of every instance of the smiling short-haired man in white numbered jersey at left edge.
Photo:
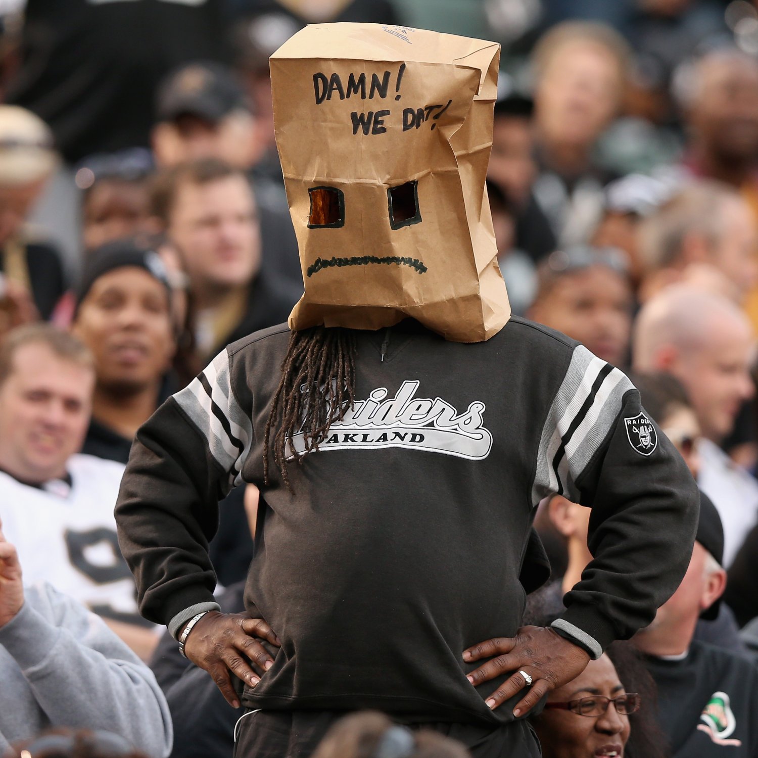
M47 324L2 343L0 518L27 583L74 597L146 658L157 638L137 613L113 517L124 466L77 454L94 383L89 350Z

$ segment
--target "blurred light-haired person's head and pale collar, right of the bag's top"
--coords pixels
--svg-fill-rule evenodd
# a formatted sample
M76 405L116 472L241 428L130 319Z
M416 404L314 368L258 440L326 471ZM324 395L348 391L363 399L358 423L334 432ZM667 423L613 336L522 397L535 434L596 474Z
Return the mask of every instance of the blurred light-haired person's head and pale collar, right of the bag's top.
M627 58L621 36L590 22L559 24L534 49L534 193L560 246L587 242L600 219L614 177L594 163L593 148L621 106Z

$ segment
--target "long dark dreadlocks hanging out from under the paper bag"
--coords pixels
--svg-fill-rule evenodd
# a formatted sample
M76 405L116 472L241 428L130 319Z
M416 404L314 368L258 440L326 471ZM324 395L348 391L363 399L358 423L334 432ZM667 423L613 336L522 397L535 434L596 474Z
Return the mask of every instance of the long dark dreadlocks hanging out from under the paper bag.
M287 490L293 492L287 475L287 456L302 463L304 456L318 450L334 421L340 421L356 398L356 337L342 327L311 327L290 334L282 377L266 422L263 477L269 483L271 430L274 463ZM299 453L287 441L302 432L305 446Z

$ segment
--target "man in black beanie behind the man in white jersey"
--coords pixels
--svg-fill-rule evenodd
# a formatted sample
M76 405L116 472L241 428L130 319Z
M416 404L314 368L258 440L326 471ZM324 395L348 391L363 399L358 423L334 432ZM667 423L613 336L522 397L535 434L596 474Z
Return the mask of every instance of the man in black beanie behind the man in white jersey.
M158 253L130 240L90 253L72 328L96 366L83 452L126 463L137 429L171 391L174 323L168 274Z

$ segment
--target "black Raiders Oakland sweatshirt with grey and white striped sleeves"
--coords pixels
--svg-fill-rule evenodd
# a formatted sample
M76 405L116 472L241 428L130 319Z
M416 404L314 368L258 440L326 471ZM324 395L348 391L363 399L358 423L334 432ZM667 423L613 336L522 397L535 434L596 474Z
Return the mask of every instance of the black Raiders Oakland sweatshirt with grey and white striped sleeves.
M282 641L243 703L497 722L462 651L521 625L537 503L591 506L594 561L554 623L600 656L672 594L691 556L694 481L617 368L512 318L475 344L415 321L356 331L356 403L318 452L263 483L290 332L222 352L137 434L116 506L146 618L172 634L215 609L218 500L262 493L246 608ZM296 435L291 443L302 445Z

